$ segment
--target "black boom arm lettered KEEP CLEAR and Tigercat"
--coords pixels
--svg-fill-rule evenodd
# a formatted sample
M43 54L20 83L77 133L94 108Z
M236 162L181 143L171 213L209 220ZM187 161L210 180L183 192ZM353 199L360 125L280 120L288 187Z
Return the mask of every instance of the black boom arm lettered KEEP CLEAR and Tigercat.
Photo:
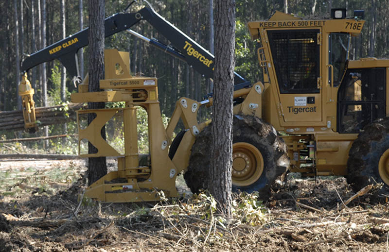
M214 56L149 7L144 7L136 13L117 13L107 17L105 20L105 36L108 37L127 30L140 20L149 22L170 41L174 49L170 49L155 40L150 40L150 44L186 61L204 77L213 77ZM25 72L43 62L58 59L75 81L79 78L77 51L88 45L88 30L89 28L86 28L31 54L22 61L21 70ZM234 72L234 80L235 84L247 83L249 85L248 81L236 72Z

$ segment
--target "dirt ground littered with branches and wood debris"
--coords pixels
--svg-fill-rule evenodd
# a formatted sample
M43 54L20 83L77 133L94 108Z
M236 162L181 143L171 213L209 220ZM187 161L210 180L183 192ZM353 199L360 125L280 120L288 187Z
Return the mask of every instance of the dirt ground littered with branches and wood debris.
M113 162L109 167L114 168ZM233 219L213 199L118 204L81 199L85 161L0 161L0 252L387 252L389 207L374 190L354 199L342 177L289 174L268 202L234 194Z

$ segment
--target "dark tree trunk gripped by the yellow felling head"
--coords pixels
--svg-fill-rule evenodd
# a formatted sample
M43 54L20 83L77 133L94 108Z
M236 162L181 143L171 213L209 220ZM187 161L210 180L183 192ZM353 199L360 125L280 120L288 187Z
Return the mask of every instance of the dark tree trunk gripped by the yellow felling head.
M89 0L89 92L100 91L99 80L104 79L104 0ZM104 102L88 102L89 109L104 108ZM95 118L88 115L88 124ZM106 129L101 131L104 139ZM90 142L88 153L96 153L97 149ZM93 157L88 160L89 185L106 174L106 157Z

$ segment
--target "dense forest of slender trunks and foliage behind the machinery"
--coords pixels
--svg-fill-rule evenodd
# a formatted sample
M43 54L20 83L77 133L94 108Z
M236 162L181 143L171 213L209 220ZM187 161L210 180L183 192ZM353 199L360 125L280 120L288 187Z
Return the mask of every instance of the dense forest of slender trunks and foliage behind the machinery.
M17 110L20 81L18 64L20 58L51 45L66 36L88 27L88 2L86 0L12 0L0 1L0 111ZM106 0L106 17L125 9L129 0ZM178 29L191 36L212 52L212 0L149 0L151 6ZM62 4L61 4L62 3ZM146 4L138 1L130 6L136 12ZM249 34L248 21L267 20L275 11L283 11L302 18L329 18L331 8L346 8L347 17L354 10L365 10L365 26L362 34L352 38L350 59L365 57L389 57L389 0L236 0L235 71L255 83L262 80L256 54L256 41ZM64 13L64 20L61 20ZM65 26L65 27L64 27ZM46 27L46 28L45 28ZM157 38L169 44L146 21L131 27L149 38ZM42 31L45 30L43 33ZM212 83L203 78L186 63L158 50L133 35L121 32L106 38L106 49L130 52L132 75L157 77L161 111L170 117L179 97L201 101L203 95L212 92ZM80 54L88 59L88 47ZM79 61L80 55L79 54ZM85 76L88 60L81 64ZM35 106L52 106L70 101L76 92L71 78L66 79L66 97L61 99L61 65L54 60L29 70L29 80L35 88ZM42 76L43 75L43 76ZM43 78L42 78L43 77ZM45 78L46 77L46 78ZM44 102L44 82L47 80L47 102ZM201 114L203 117L206 114ZM67 130L73 131L68 125ZM63 127L51 127L50 134L58 134ZM20 133L19 133L20 134ZM38 135L40 133L36 133ZM1 131L3 137L14 133ZM30 134L31 136L31 134ZM74 150L74 146L69 150Z

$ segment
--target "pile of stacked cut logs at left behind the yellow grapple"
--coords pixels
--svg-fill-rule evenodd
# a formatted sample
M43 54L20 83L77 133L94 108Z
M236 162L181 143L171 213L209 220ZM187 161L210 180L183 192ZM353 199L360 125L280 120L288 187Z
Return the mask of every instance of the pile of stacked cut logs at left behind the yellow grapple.
M69 109L67 111L65 107ZM70 103L51 107L36 107L35 115L38 127L61 124L76 120L76 111L86 108L84 103ZM24 130L23 112L21 110L0 111L0 130Z

